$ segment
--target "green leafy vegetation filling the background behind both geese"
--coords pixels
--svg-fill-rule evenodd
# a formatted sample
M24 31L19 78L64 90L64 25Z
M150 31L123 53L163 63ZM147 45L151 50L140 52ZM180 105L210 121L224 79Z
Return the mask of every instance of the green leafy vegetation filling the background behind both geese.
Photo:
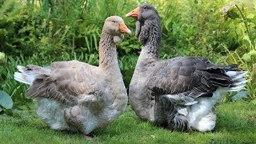
M18 110L28 110L36 117L33 102L25 97L27 86L13 79L15 67L72 59L97 66L104 20L119 15L134 32L134 20L125 14L142 2L160 14L162 59L194 55L238 63L249 71L246 89L227 94L224 101L235 95L256 105L255 0L0 0L0 111L21 117ZM128 88L141 44L132 35L117 47Z

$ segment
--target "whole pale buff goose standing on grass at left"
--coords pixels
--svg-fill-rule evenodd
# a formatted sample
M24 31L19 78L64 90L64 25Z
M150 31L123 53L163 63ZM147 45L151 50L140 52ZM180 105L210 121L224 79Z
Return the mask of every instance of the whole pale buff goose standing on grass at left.
M99 66L85 62L53 62L50 68L17 66L18 82L30 85L37 114L54 130L90 132L104 127L126 110L128 96L118 67L116 42L131 34L122 18L106 18L99 42Z

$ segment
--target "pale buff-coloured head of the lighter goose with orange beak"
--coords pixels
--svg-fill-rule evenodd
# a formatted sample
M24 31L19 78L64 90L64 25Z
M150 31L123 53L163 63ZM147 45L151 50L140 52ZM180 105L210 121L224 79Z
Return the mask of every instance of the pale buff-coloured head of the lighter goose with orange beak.
M112 35L114 43L121 42L124 38L124 34L131 34L131 31L128 29L123 19L118 16L106 18L102 31Z

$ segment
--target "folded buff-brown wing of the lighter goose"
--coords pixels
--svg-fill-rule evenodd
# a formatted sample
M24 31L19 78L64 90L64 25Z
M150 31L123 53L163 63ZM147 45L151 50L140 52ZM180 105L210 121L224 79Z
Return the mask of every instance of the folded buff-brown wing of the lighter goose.
M29 66L28 70L36 68ZM100 79L94 72L96 68L78 61L53 62L50 73L36 76L26 97L52 98L64 104L76 105L80 95L94 94L100 89Z

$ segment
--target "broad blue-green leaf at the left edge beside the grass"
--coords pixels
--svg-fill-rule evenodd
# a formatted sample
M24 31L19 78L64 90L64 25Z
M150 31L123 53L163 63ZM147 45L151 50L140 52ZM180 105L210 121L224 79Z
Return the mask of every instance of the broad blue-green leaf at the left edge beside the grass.
M13 107L13 100L10 98L10 95L2 90L0 90L0 105L6 109ZM0 111L2 111L1 107Z

